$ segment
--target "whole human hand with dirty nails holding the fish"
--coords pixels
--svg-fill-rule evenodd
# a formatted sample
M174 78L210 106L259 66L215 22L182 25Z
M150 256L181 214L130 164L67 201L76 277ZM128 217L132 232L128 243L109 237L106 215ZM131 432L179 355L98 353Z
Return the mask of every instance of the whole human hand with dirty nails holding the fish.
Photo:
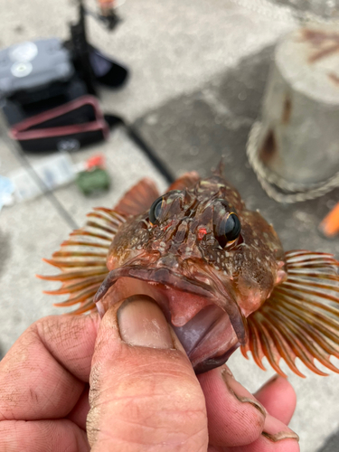
M296 403L286 380L255 398L226 366L196 377L155 304L118 307L101 323L45 317L16 341L0 363L0 450L299 450L285 425Z

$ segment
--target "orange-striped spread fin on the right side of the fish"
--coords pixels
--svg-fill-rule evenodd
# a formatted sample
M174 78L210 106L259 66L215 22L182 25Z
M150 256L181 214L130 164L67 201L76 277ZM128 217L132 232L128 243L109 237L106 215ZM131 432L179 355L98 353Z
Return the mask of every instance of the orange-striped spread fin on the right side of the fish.
M296 359L318 375L327 375L315 360L339 373L330 361L339 358L339 262L332 254L306 250L286 253L287 280L274 288L265 303L248 317L248 342L241 347L252 353L261 369L264 356L282 376L279 362L300 377L305 375Z

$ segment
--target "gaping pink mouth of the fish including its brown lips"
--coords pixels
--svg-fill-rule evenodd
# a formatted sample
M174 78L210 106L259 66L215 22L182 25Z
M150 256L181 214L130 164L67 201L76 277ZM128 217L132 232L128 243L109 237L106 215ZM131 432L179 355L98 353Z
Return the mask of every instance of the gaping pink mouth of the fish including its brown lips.
M110 306L150 297L173 327L196 373L221 366L246 341L240 309L210 278L185 278L168 268L111 270L94 298L103 316ZM225 297L228 297L225 298Z

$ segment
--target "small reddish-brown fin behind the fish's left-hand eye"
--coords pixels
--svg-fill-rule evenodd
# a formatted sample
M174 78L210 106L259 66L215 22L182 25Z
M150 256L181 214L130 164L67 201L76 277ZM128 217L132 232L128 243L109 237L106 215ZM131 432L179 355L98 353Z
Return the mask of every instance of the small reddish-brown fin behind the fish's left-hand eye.
M114 211L123 215L138 215L149 209L159 196L155 183L145 177L124 194Z

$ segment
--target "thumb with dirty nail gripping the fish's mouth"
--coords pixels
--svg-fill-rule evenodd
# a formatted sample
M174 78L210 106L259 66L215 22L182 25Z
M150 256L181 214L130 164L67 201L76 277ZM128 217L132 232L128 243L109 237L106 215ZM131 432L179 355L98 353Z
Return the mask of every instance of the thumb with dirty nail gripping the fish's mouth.
M149 297L128 298L103 316L89 385L92 452L207 450L202 389Z

